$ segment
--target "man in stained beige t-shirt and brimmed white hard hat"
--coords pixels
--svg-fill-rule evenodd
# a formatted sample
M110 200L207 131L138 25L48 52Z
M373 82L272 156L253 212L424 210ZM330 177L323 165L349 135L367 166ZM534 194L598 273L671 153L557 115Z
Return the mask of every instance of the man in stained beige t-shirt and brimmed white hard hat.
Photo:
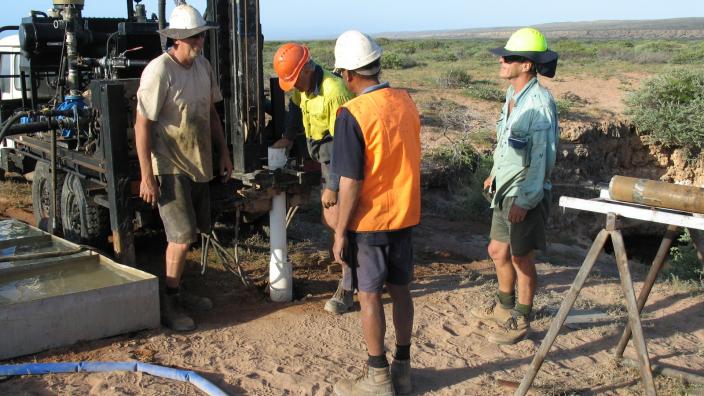
M142 72L137 91L135 141L142 181L140 197L158 205L164 223L166 288L162 322L176 331L195 328L186 311L207 310L212 303L181 290L181 275L190 244L198 232L210 232L213 179L212 143L218 148L218 175L230 178L232 163L215 103L222 100L210 63L201 52L213 29L190 5L171 13L159 33L173 46Z

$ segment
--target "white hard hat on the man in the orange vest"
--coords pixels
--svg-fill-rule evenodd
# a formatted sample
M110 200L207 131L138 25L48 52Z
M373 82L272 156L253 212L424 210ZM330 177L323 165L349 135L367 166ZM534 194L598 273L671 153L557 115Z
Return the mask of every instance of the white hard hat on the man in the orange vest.
M368 35L348 30L335 42L335 68L357 70L381 58L381 47ZM377 70L368 74L376 74ZM367 74L367 73L365 73Z

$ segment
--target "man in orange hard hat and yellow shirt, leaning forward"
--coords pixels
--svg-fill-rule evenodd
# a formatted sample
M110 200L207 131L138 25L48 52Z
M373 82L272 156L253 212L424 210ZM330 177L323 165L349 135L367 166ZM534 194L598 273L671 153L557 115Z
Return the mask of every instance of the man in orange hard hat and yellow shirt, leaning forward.
M273 147L290 147L296 135L300 132L305 134L308 153L320 163L323 222L332 230L337 220L339 185L339 177L330 173L335 119L338 108L354 95L338 76L324 70L310 58L307 47L297 43L279 47L274 55L274 70L279 76L281 89L293 92L284 136ZM342 279L335 294L325 303L325 310L339 315L349 311L352 304L352 274L343 266Z

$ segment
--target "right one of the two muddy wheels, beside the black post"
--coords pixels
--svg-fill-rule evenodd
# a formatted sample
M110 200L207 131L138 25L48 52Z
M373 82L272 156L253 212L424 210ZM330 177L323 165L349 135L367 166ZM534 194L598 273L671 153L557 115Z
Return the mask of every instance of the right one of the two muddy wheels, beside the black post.
M61 189L61 224L64 238L76 243L101 246L107 242L109 213L93 202L85 182L68 175Z

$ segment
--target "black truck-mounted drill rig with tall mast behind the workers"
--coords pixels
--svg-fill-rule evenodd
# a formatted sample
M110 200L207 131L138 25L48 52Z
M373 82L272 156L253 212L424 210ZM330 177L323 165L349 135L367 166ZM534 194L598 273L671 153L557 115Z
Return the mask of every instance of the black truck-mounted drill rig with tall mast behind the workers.
M12 143L1 149L0 168L33 172L40 226L79 243L112 240L118 260L134 265L135 231L160 224L139 198L134 121L139 76L168 44L157 32L166 26L166 0L150 17L141 0L126 0L126 18L84 17L84 1L53 0L51 10L0 28L17 30L20 50L18 73L0 75L20 82L19 98L0 100L0 142ZM205 18L220 27L204 55L219 79L234 165L226 184L211 183L213 212L247 221L268 211L280 191L289 206L304 203L320 181L304 150L283 169L267 167L286 111L276 79L264 84L259 1L208 0Z

